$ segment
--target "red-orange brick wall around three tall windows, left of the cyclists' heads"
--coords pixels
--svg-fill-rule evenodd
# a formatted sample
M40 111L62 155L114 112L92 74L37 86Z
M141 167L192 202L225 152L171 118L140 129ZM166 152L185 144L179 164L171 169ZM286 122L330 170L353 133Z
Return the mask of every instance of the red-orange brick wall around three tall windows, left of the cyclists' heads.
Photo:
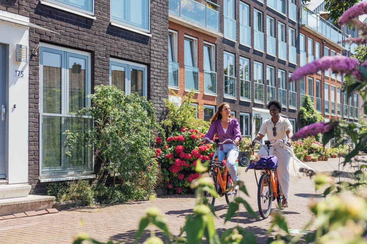
M197 105L203 106L205 105L217 105L217 97L212 95L204 95L204 60L203 60L203 53L204 53L204 41L210 42L211 44L217 44L217 38L211 37L210 35L206 35L200 33L199 31L189 29L188 27L179 25L177 23L168 22L168 28L170 30L177 31L177 61L179 64L179 90L175 90L175 92L180 96L183 97L187 94L185 91L185 61L184 61L184 38L185 35L189 35L190 37L194 37L197 39L197 68L199 68L199 93L195 94L195 100ZM218 53L215 53L216 56ZM215 64L215 70L217 70L217 64ZM198 111L198 118L203 119L204 114L203 110Z

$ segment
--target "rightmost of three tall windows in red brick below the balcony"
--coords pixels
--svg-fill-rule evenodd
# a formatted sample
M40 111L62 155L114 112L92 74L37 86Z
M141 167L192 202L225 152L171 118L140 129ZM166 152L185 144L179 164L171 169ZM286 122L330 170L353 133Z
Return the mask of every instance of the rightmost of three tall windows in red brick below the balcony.
M204 43L204 92L217 93L217 73L215 73L215 47Z

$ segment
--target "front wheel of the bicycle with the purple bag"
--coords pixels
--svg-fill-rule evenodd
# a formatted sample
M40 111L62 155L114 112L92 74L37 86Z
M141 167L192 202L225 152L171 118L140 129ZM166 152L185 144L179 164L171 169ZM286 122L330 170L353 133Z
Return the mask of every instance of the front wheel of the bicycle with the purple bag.
M269 217L272 209L273 188L268 174L262 174L257 188L257 204L262 218Z

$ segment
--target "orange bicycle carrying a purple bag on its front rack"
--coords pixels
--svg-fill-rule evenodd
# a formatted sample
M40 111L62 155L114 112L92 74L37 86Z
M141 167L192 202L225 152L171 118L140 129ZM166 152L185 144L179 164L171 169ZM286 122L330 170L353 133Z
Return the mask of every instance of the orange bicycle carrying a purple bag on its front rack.
M279 141L286 144L284 140L272 140L272 141ZM254 140L253 143L258 143L261 146L265 147L266 151L268 152L268 156L270 147L274 146L274 144L270 144L269 140L264 141L265 144L262 144L257 140ZM269 168L268 165L256 164L256 162L252 164L253 164L252 166L251 165L248 166L246 172L249 168L250 169L253 168L254 170L263 170L259 183L257 183L256 171L255 171L255 179L258 186L257 204L259 207L259 213L262 218L266 219L269 217L270 211L272 209L272 202L275 201L275 199L277 200L278 203L278 209L279 210L284 209L284 207L281 206L282 197L280 196L280 186L278 183L278 174L276 171L277 166L275 166L274 168Z

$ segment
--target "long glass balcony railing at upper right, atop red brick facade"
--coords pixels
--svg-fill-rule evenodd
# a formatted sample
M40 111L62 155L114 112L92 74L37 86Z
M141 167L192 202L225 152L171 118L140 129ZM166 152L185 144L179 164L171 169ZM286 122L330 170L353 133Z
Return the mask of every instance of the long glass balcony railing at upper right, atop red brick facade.
M302 6L301 10L301 25L308 25L313 30L337 43L343 39L343 31L304 6ZM342 46L341 43L340 45Z

